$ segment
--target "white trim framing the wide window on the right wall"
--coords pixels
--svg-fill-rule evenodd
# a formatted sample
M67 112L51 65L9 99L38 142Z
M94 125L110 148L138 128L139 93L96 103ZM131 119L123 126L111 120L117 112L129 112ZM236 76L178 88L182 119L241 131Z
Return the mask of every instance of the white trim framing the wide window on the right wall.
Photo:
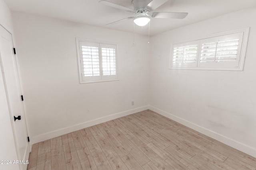
M196 38L190 38L190 39L186 39L186 40L182 40L182 41L175 41L173 43L171 43L171 48L170 48L170 60L169 60L169 69L181 69L181 70L236 70L236 71L242 71L244 68L244 61L245 61L245 57L246 57L246 48L247 48L247 43L248 43L248 37L249 37L249 30L250 27L246 27L246 28L241 28L241 29L235 29L232 31L225 31L225 32L221 32L221 33L214 33L214 34L210 34L210 35L202 35ZM202 39L208 39L208 38L213 38L213 37L218 37L218 36L224 36L224 35L229 35L229 34L235 34L235 33L243 33L243 39L242 39L242 46L241 46L241 50L240 50L240 56L238 56L239 58L239 64L238 67L200 67L198 66L198 64L196 64L196 66L192 66L192 67L186 67L186 66L172 66L172 62L173 62L173 46L177 45L177 44L182 44L182 43L188 43L191 41L200 41ZM198 47L198 56L197 56L197 61L200 59L200 47L201 44L199 44Z

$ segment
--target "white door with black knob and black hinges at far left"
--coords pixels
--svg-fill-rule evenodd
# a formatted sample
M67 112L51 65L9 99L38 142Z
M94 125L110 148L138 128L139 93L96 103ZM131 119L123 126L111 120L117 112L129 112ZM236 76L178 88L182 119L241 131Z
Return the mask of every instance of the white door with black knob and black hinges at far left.
M24 108L20 97L21 88L17 71L17 63L15 55L13 53L12 35L2 26L0 26L0 57L2 78L4 80L6 99L8 103L8 110L10 113L10 121L14 134L14 141L16 144L16 152L18 160L26 162L29 156L29 145L27 141L28 135L26 129ZM20 116L21 119L17 119L16 121L14 121L14 116ZM3 129L1 129L1 131L2 130ZM25 170L27 167L27 164L23 164L23 162L20 162L19 164L21 170Z

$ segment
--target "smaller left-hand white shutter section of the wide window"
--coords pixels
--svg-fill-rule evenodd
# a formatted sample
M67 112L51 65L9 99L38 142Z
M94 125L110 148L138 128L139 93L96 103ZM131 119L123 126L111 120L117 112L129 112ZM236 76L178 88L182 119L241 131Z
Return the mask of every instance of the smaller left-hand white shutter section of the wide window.
M174 44L172 49L172 66L196 66L198 41Z

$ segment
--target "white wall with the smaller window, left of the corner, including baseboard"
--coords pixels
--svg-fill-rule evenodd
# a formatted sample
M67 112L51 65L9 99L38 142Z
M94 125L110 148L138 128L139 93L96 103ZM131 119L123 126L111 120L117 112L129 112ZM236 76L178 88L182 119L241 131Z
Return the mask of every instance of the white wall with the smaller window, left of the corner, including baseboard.
M32 143L147 108L147 36L132 45L132 33L19 12L13 20ZM75 37L117 42L120 80L79 84Z

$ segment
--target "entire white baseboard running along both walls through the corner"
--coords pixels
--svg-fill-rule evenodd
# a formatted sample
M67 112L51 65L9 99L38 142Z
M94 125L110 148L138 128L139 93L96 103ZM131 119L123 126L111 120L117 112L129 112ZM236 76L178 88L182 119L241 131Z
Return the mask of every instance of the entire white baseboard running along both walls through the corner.
M86 128L86 127L90 127L90 126L93 126L93 125L104 123L106 121L117 119L119 117L124 117L124 116L130 115L130 114L133 114L133 113L137 113L137 112L140 112L140 111L147 110L147 109L155 111L156 113L159 113L160 115L168 117L169 119L172 119L172 120L174 120L174 121L176 121L176 122L178 122L182 125L190 127L191 129L194 129L195 131L198 131L198 132L200 132L204 135L212 137L213 139L216 139L216 140L218 140L218 141L220 141L220 142L222 142L222 143L224 143L224 144L226 144L230 147L233 147L233 148L235 148L237 150L240 150L240 151L242 151L246 154L249 154L253 157L256 157L256 149L254 149L250 146L239 143L238 141L235 141L233 139L230 139L228 137L225 137L223 135L215 133L214 131L210 131L209 129L205 129L204 127L198 126L194 123L186 121L185 119L182 119L180 117L172 115L171 113L168 113L166 111L163 111L161 109L158 109L157 107L150 106L150 105L149 106L138 107L138 108L135 108L135 109L132 109L132 110L123 111L123 112L108 115L108 116L105 116L105 117L100 117L98 119L94 119L94 120L91 120L91 121L80 123L78 125L74 125L74 126L71 126L71 127L66 127L64 129L59 129L57 131L52 131L52 132L49 132L49 133L45 133L43 135L32 137L30 139L30 149L32 149L32 145L34 143L38 143L38 142L42 142L42 141L45 141L45 140L48 140L48 139L52 139L54 137L58 137L58 136L61 136L61 135L67 134L67 133L78 131L78 130Z

